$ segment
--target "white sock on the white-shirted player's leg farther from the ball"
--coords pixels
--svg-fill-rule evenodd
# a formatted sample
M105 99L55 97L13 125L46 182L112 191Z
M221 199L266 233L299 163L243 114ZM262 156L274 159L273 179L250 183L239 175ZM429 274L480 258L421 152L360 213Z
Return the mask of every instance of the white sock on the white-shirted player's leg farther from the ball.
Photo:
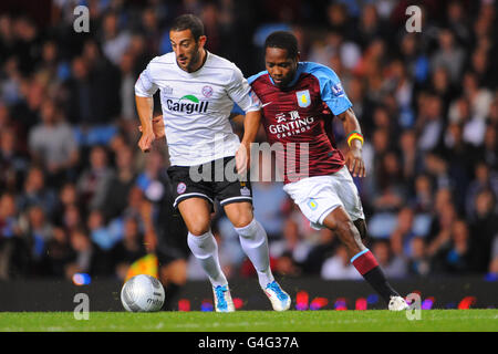
M243 228L235 228L239 235L242 250L249 257L252 266L258 272L259 284L266 288L274 278L270 269L270 252L268 250L267 231L258 220L252 221Z

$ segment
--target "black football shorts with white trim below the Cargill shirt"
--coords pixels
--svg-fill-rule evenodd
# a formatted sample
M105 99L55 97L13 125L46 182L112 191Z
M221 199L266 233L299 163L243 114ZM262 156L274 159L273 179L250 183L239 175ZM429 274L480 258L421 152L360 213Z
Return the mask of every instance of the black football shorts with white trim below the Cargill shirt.
M236 174L235 157L225 157L197 166L170 166L175 208L181 200L204 198L214 207L218 200L221 207L231 202L252 204L252 189L249 180ZM249 174L248 174L249 175Z

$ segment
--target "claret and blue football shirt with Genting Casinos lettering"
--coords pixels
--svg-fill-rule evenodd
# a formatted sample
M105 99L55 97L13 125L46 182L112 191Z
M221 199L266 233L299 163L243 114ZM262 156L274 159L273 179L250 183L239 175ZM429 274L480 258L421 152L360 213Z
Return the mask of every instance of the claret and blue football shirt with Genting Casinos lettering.
M280 165L283 166L283 160L287 164L282 167L284 183L330 175L344 166L344 156L336 148L332 118L352 104L333 70L300 62L294 79L286 88L276 86L268 71L249 77L248 82L261 101L268 142L283 145ZM301 168L302 154L308 154L307 170ZM278 152L277 157L279 159Z

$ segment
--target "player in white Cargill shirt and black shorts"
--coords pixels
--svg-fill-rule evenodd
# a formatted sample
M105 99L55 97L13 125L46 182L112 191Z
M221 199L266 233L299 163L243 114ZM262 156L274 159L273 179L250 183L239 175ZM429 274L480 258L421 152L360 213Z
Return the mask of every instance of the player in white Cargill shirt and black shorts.
M253 218L250 181L240 178L247 173L261 103L234 63L204 48L207 39L197 17L176 18L169 38L174 52L153 59L135 84L142 124L138 147L147 152L156 138L153 95L160 90L174 206L187 226L188 247L211 282L216 311L231 312L235 306L210 230L215 198L235 226L273 309L288 310L290 296L274 281L270 269L267 233ZM234 103L246 113L242 142L229 122Z

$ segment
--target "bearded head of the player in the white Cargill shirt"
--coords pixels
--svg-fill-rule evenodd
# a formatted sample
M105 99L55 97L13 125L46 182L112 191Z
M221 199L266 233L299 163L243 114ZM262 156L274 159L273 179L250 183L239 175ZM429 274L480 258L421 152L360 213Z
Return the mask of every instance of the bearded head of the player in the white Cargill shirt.
M178 66L187 72L196 71L201 65L206 35L204 24L194 14L177 17L169 30L169 40L176 54Z

